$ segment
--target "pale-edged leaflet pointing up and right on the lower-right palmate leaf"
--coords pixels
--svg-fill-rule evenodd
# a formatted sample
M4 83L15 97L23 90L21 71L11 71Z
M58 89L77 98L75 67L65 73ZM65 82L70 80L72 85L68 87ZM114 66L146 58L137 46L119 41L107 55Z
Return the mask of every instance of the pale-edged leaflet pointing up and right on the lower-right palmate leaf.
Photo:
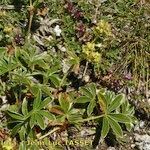
M117 109L123 103L123 98L124 96L122 94L117 95L110 103L108 112L112 112Z

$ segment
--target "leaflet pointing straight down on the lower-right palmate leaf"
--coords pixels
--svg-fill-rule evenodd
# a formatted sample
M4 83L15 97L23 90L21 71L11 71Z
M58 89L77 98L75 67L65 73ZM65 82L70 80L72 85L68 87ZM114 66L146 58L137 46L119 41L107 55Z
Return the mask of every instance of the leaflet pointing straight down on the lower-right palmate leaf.
M110 126L109 126L109 121L107 117L103 118L103 125L102 125L102 131L101 131L101 136L102 138L105 138L109 132Z

